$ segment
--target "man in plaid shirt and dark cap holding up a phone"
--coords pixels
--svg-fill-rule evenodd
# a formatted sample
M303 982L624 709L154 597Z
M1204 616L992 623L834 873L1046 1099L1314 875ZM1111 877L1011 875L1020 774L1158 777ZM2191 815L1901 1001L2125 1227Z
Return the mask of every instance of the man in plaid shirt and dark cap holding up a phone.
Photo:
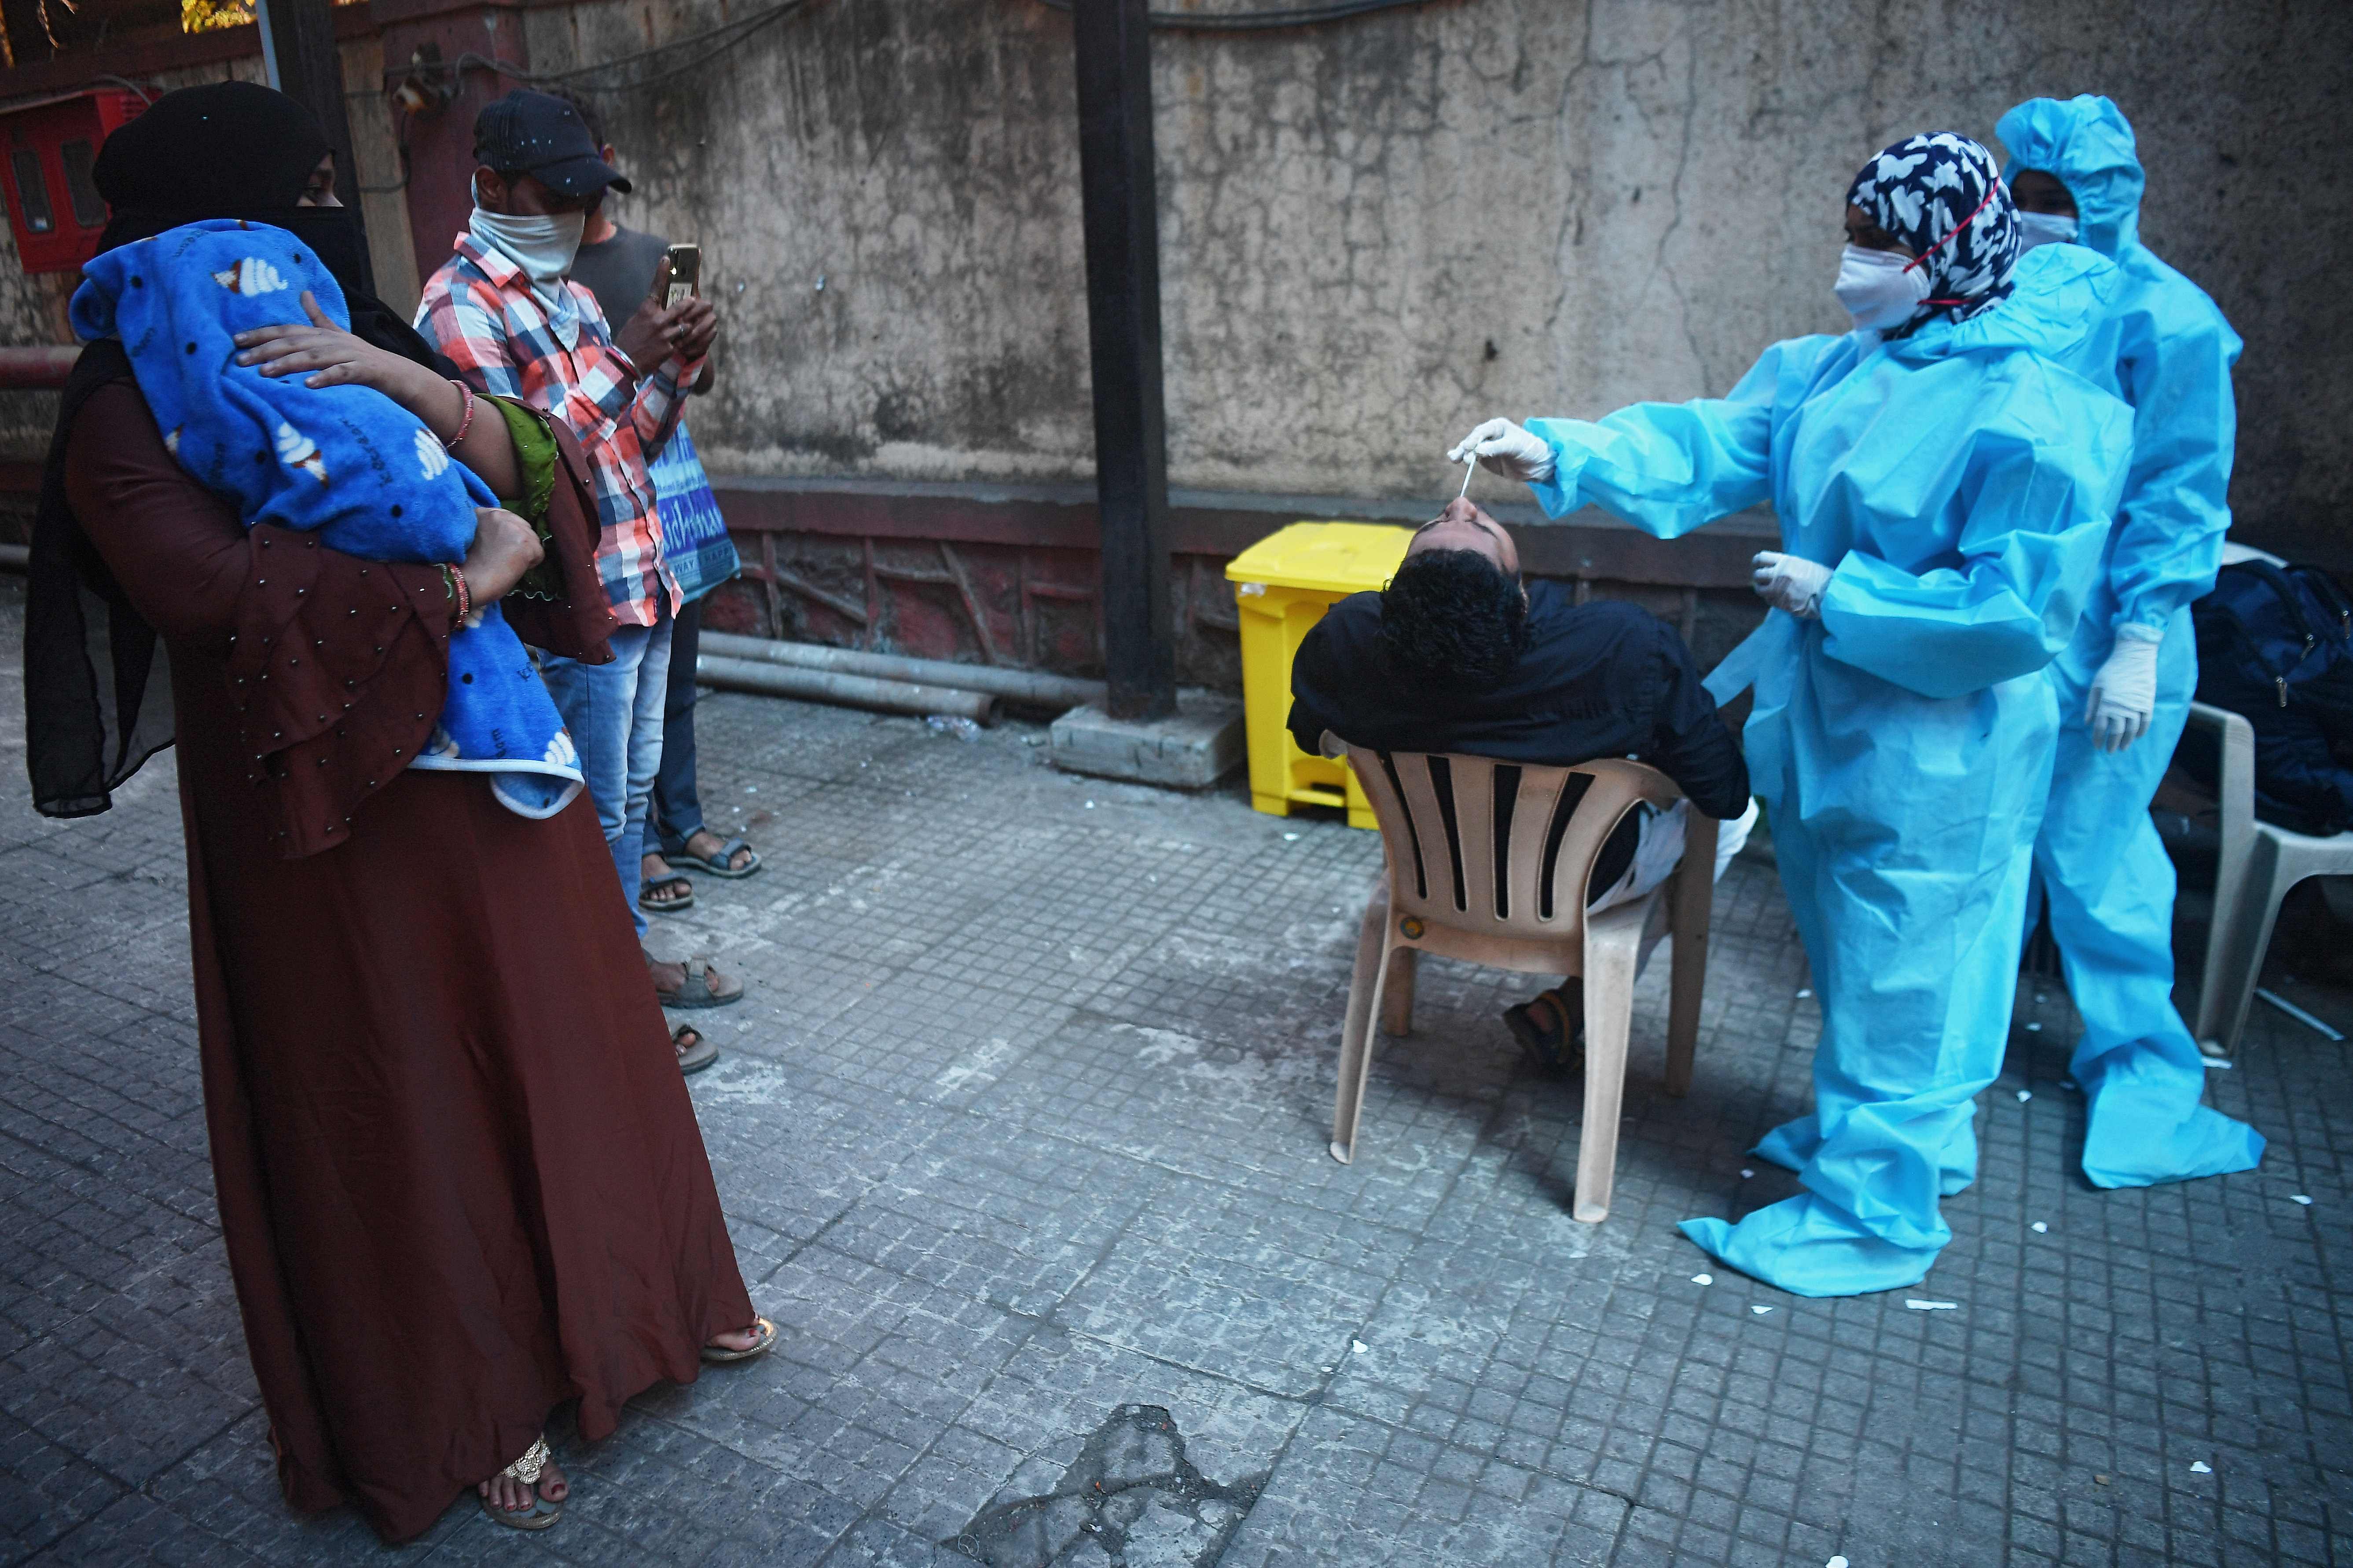
M664 289L619 331L595 296L567 277L586 209L628 181L598 155L579 110L539 92L511 92L473 127L475 209L456 254L433 273L416 327L475 390L518 397L560 418L595 463L602 538L598 576L612 614L614 661L584 665L546 656L541 675L581 755L614 872L645 938L638 905L647 797L661 769L661 708L671 665L671 618L680 595L661 557L661 515L647 461L678 428L685 388L718 334L704 299L661 306ZM668 270L668 268L664 268ZM666 1006L715 1006L744 994L706 961L656 964ZM682 1060L715 1056L680 1030Z

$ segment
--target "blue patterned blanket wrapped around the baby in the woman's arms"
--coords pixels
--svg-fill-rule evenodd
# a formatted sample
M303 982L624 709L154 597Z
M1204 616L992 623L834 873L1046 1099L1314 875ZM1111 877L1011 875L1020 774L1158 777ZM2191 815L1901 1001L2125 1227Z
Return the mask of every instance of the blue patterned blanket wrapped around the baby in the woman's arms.
M85 266L73 331L122 339L165 447L233 498L247 527L318 531L374 562L461 562L475 508L499 501L424 421L365 386L311 388L238 364L235 334L308 322L304 289L336 327L351 324L344 289L301 240L207 219ZM409 766L487 773L522 816L553 816L579 795L572 736L496 604L449 635L449 696Z

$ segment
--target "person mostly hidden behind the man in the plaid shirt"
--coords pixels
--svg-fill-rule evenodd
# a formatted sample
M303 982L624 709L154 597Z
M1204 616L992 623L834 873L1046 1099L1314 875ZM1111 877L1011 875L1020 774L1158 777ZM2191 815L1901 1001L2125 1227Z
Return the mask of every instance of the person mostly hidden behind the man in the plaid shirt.
M595 106L562 94L579 110L598 155L614 162ZM668 270L664 273L664 266ZM701 284L701 247L668 244L661 235L626 228L612 219L609 202L598 197L588 209L588 228L572 280L588 287L614 322L635 322L696 294ZM696 393L711 390L711 364L704 364ZM694 907L694 884L680 870L711 877L751 877L760 856L741 837L720 839L704 825L701 792L694 780L694 656L701 642L704 595L736 574L734 541L720 517L711 477L704 475L694 437L685 421L652 458L654 494L661 508L661 550L678 576L685 604L671 632L671 682L661 715L661 771L654 776L652 806L645 823L645 858L640 863L638 907L671 914Z

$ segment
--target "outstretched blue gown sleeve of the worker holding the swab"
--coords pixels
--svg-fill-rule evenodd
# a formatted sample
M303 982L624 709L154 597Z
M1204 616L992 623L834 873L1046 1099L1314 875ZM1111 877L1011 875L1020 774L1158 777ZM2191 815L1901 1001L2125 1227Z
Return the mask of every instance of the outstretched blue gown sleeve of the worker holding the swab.
M1529 489L1546 517L1598 505L1657 538L1678 538L1772 498L1774 404L1842 339L1788 339L1722 397L1638 402L1598 421L1532 418L1553 477Z

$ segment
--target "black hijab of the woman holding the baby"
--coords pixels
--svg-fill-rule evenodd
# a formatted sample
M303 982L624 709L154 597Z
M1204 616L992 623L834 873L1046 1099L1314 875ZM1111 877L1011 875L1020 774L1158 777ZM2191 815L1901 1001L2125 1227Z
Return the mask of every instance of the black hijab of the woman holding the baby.
M351 329L405 360L454 374L391 306L369 294L367 247L344 207L299 207L327 155L318 118L256 82L167 92L106 139L92 183L113 209L99 249L198 219L247 219L304 237L344 287ZM24 618L26 762L42 816L94 816L111 792L172 743L165 651L66 503L66 435L101 386L129 381L122 346L82 350L66 378L33 520Z

